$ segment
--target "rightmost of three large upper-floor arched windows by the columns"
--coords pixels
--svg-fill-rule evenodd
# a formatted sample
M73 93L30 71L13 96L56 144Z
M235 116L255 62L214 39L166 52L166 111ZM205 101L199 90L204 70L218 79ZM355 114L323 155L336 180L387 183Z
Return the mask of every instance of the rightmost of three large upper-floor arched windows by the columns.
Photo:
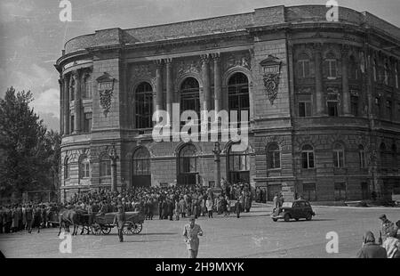
M235 73L228 81L228 110L237 111L237 121L242 121L241 111L250 110L249 80L243 73ZM247 113L248 114L248 113ZM249 116L247 116L249 118ZM235 118L230 118L232 121Z

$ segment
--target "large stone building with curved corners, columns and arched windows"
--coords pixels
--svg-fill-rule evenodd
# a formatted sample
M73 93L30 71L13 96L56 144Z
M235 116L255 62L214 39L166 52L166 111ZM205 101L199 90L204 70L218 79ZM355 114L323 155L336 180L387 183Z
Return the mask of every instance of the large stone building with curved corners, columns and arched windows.
M221 176L268 199L400 193L400 29L369 12L276 6L98 30L60 72L62 199L99 187L214 182L214 142L155 142L153 112L248 110L249 147Z

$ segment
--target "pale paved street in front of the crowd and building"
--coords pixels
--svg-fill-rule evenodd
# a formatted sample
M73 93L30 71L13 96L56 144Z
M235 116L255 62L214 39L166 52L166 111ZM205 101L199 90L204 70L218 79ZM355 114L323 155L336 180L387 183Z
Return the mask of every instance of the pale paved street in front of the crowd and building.
M379 233L380 214L392 221L400 219L399 208L385 207L314 207L316 216L310 222L300 220L274 223L271 207L255 204L252 212L240 219L234 215L196 221L204 231L200 237L199 256L207 257L354 257L361 246L364 231ZM187 257L182 239L186 220L179 222L145 221L140 235L124 236L118 242L116 228L108 235L75 236L72 254L61 254L58 229L39 234L18 232L0 235L0 248L6 257ZM339 254L327 254L329 231L339 234Z

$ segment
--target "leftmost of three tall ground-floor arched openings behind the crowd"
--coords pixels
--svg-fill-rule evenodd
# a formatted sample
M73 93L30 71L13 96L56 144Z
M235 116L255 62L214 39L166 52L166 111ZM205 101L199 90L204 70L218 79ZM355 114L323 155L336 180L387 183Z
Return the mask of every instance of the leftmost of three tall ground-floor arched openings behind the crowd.
M151 186L150 154L146 148L140 148L133 154L132 184L134 186Z

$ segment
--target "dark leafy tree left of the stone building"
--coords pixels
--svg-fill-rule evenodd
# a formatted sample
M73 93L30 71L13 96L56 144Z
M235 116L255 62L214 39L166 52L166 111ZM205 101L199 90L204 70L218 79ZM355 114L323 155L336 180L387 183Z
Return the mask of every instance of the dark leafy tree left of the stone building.
M30 91L7 89L0 99L0 196L20 198L24 191L46 189L56 153L57 135L46 126L29 103ZM58 173L58 169L56 169ZM47 189L46 189L47 190Z

